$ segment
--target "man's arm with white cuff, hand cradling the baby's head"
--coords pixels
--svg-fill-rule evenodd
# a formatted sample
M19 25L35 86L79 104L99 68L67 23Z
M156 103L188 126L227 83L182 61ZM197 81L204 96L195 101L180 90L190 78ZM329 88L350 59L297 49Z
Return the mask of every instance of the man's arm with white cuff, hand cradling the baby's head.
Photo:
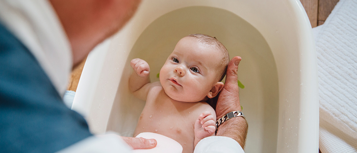
M217 119L232 111L241 111L238 89L238 64L240 57L234 57L227 67L224 87L217 98ZM212 103L209 102L209 103ZM235 117L223 122L219 127L216 137L207 137L199 141L194 153L200 152L241 152L243 153L248 123L243 117Z

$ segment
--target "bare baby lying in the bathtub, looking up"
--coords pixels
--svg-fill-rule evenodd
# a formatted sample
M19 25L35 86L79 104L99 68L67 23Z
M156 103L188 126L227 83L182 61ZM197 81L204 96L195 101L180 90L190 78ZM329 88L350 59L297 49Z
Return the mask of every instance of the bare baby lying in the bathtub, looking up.
M193 152L201 139L215 134L216 113L206 101L223 88L229 61L223 44L202 34L177 42L160 70L160 82L150 83L149 65L133 59L129 88L146 100L134 136L158 133L179 142L183 152Z

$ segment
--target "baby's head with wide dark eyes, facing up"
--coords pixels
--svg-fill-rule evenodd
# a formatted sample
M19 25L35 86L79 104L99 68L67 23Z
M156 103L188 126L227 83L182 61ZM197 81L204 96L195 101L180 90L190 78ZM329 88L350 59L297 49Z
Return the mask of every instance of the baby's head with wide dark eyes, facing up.
M172 99L197 102L215 97L230 61L216 38L193 34L177 42L160 70L160 83Z

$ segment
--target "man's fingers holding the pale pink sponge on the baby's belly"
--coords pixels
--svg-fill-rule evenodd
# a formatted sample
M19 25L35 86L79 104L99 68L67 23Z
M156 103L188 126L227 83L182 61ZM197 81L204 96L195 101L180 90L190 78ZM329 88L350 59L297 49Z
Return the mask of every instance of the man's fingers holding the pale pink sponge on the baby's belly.
M155 139L145 139L145 138L132 138L132 137L121 137L127 144L129 144L133 149L151 149L156 147L157 141Z

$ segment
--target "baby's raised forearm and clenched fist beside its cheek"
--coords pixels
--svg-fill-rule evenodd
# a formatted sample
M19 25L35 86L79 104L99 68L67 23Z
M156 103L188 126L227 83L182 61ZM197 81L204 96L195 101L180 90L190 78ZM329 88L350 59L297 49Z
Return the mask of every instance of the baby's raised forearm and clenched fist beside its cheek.
M138 98L146 100L150 83L149 64L142 59L133 59L130 65L133 67L134 72L129 79L129 89Z

